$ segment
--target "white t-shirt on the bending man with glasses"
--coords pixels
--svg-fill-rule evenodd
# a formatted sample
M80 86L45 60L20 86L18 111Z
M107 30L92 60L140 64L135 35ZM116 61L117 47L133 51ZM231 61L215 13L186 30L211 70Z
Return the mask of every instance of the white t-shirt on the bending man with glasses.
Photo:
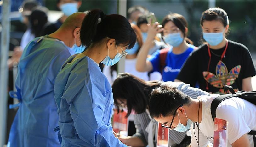
M199 130L195 124L195 134L193 124L191 125L192 147L198 146L196 141L198 138L200 147L206 147L209 141L213 144L214 122L211 114L211 103L217 96L219 94L198 97L198 99L202 100L202 121L199 123ZM256 106L244 99L233 97L222 101L216 109L216 117L228 121L229 147L242 135L247 134L251 130L256 130ZM251 147L253 147L253 136L248 135L248 138Z

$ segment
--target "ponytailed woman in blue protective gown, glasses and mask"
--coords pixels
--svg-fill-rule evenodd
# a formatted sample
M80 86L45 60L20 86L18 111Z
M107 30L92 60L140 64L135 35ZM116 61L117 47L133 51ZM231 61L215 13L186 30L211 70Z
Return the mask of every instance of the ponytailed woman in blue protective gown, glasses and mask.
M99 63L114 65L126 56L136 34L125 17L92 10L80 39L87 49L67 59L55 82L61 146L126 146L113 134L113 94Z

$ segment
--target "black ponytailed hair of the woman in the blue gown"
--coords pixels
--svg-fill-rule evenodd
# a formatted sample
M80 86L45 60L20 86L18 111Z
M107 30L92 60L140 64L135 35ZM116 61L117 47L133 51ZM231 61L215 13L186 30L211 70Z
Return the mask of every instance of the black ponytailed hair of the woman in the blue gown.
M82 45L89 47L104 38L113 38L117 45L132 48L136 34L128 20L122 15L105 15L101 10L91 10L83 20L80 39Z

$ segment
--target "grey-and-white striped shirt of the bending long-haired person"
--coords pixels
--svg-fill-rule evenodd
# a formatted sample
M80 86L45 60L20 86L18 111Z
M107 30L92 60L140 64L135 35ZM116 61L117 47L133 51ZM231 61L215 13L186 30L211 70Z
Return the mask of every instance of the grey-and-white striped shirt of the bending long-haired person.
M189 84L184 84L182 82L164 82L164 83L162 83L162 85L165 85L165 84L168 84L172 87L177 88L178 90L180 90L181 92L190 96L193 99L196 99L198 96L201 96L201 95L210 95L208 92L205 92L198 88L190 87ZM148 144L148 135L149 135L148 132L146 131L146 127L148 126L148 124L150 123L151 120L152 120L152 118L150 117L150 115L147 112L143 112L141 114L134 115L134 124L136 127L136 134L134 134L133 137L140 138L144 142L145 146ZM157 126L156 121L155 121L155 125ZM157 136L157 131L155 133L156 134L154 134L154 136ZM185 138L185 136L186 136L186 132L180 133L175 130L169 131L169 139L173 140L175 142L175 144L180 144L181 141ZM154 137L154 142L156 145L156 137Z

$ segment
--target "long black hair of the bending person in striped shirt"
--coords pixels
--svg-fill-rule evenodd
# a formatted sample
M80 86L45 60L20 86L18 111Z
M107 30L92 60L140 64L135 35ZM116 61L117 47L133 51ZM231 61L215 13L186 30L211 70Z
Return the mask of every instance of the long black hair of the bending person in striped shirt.
M158 81L145 81L130 73L120 73L112 85L114 104L119 112L120 104L117 99L125 99L127 101L127 115L131 114L132 109L137 114L145 112L148 108L149 97L151 91L160 86Z

